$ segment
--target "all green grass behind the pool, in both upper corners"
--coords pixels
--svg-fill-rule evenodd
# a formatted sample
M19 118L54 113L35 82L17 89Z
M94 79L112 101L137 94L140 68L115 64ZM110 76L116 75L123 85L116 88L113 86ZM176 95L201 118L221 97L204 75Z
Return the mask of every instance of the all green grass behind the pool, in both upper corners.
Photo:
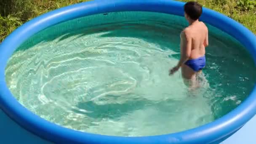
M85 1L88 0L0 0L0 43L14 29L36 16ZM256 34L256 0L197 1L207 8L235 19Z

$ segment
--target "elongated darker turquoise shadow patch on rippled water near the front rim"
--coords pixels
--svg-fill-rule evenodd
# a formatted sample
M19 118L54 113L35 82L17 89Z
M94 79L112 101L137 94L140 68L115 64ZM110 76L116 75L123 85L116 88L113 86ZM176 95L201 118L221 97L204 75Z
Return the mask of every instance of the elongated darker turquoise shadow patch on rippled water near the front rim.
M101 100L104 101L106 97L117 97L117 96L104 96ZM77 104L77 108L83 109L88 112L81 112L73 109L73 111L77 113L81 113L87 115L93 119L102 120L104 118L109 119L119 119L120 117L132 113L136 110L147 109L147 107L154 107L162 112L169 112L166 111L170 109L170 104L181 105L182 101L174 101L172 99L167 99L165 101L150 101L147 99L139 98L139 99L131 99L128 101L124 101L122 103L117 103L113 101L112 104L96 104L94 101L86 101L80 102ZM169 105L168 105L169 104ZM174 107L174 106L173 106Z

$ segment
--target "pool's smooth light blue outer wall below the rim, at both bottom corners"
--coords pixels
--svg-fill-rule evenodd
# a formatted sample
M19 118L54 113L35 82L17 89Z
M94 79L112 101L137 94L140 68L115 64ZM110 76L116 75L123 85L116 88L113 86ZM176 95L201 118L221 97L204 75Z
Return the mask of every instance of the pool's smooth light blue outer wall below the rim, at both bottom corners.
M51 144L51 142L40 139L38 136L24 130L13 120L11 120L0 109L0 143L2 144L18 144L22 141L24 144ZM229 139L225 140L221 144L253 144L256 142L253 139L256 130L256 116L253 117L243 128L237 133L232 135ZM3 131L4 130L4 131Z

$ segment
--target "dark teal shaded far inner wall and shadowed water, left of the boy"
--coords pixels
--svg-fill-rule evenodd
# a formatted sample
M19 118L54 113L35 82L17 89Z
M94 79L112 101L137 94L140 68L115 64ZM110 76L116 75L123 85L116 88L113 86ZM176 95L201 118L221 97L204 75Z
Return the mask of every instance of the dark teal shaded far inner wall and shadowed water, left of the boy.
M58 43L69 37L75 37L75 40L85 35L107 32L101 37L135 37L148 43L158 44L163 50L171 48L179 53L179 33L186 26L184 21L182 21L184 24L176 24L177 21L181 20L183 18L179 16L145 12L104 13L86 16L66 21L38 32L24 42L16 51L26 50L41 42L55 41ZM123 30L124 32L120 32ZM155 37L152 37L152 34L151 36L145 35L147 32L155 33ZM169 41L169 43L161 43L164 41ZM176 45L173 47L171 44Z

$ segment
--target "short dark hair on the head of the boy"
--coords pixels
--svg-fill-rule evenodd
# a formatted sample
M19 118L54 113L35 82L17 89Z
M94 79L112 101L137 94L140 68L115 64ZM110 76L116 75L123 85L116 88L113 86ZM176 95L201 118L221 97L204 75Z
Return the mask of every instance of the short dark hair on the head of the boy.
M184 5L184 11L190 19L197 20L201 16L203 10L202 5L197 2L187 2Z

